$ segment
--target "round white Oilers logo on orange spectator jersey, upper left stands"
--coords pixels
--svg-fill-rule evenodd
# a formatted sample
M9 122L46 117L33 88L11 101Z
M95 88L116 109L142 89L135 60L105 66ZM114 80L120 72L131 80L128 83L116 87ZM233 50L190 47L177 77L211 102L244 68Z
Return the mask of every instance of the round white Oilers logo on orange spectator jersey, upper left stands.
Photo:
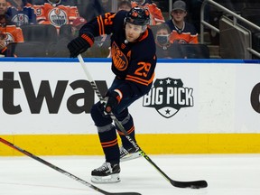
M54 26L60 27L61 25L68 23L67 13L59 8L51 9L48 17L51 21L51 24Z

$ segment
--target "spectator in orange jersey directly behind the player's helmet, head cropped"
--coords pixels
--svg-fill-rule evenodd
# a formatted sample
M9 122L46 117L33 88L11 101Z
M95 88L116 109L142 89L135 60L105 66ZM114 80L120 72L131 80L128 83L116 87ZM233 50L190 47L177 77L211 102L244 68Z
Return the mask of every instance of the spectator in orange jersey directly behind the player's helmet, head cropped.
M135 6L148 7L149 12L151 14L151 22L150 22L151 25L156 25L165 22L161 9L159 9L157 5L155 5L154 3L145 0L134 0L131 1L131 4L132 7Z

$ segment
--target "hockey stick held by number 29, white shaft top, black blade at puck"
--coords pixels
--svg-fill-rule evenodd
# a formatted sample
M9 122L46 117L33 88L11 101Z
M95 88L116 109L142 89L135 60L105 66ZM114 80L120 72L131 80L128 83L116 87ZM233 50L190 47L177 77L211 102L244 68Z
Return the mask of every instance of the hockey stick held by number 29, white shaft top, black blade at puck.
M79 54L78 55L78 59L79 59L79 62L81 64L81 67L83 68L87 78L88 78L88 81L91 85L91 87L93 88L93 90L96 92L100 102L104 102L104 98L102 97L100 91L98 90L98 87L95 83L95 80L92 79L89 71L88 71L88 67L87 65L85 64L82 56ZM139 153L141 153L141 155L144 156L144 158L153 165L153 167L158 171L160 172L163 177L169 181L172 186L174 187L178 187L178 188L191 188L191 189L200 189L200 188L206 188L208 186L208 183L207 181L173 181L168 175L166 175L155 163L153 163L152 159L146 154L144 153L144 151L140 148L140 146L135 142L134 139L132 139L132 137L126 132L124 126L117 120L116 116L111 113L109 114L111 116L111 118L113 119L113 121L115 122L115 124L120 128L120 130L124 133L125 137L127 138L127 140L132 143L136 149L136 151L138 151Z

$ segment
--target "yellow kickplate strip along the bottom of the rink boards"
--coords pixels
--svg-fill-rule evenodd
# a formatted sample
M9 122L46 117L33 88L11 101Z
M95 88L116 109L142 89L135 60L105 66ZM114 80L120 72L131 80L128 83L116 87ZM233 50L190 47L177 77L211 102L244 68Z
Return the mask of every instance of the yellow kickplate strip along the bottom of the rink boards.
M1 135L38 155L103 154L98 135ZM139 134L147 154L260 153L259 134ZM23 155L0 143L0 155Z

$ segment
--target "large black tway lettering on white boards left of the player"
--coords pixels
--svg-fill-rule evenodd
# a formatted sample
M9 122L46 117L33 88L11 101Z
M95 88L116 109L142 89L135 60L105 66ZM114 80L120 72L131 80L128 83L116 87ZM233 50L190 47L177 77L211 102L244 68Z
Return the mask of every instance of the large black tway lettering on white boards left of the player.
M18 105L17 103L14 105L14 97L17 95L17 89L23 90L32 114L40 114L44 99L49 113L58 114L67 88L72 88L73 90L78 88L83 89L82 93L72 94L70 98L66 99L67 109L71 114L89 113L90 108L95 103L95 94L88 80L75 80L70 85L69 80L58 80L54 91L51 91L49 80L42 80L39 88L33 88L29 72L19 72L19 77L21 82L14 80L14 72L3 72L3 80L0 80L0 90L2 89L3 92L2 106L6 114L16 115L23 112L23 107L19 103ZM107 91L106 81L99 80L96 81L96 84L100 93L104 95ZM38 91L37 95L35 91ZM79 100L83 100L81 106L77 104Z

